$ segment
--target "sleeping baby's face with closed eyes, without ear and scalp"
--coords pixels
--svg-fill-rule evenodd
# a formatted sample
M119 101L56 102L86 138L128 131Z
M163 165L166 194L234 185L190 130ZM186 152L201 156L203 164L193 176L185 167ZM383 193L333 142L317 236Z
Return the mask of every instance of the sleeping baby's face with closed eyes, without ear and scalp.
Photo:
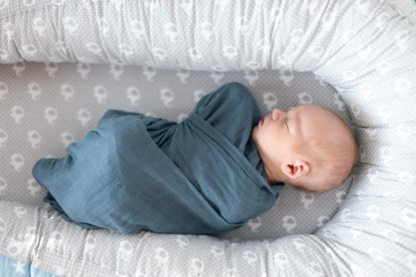
M300 105L286 111L274 109L254 127L252 139L269 170L277 170L284 161L304 159L302 146L306 141L336 140L337 133L343 133L338 132L338 128L340 126L333 124L331 116L322 107Z

